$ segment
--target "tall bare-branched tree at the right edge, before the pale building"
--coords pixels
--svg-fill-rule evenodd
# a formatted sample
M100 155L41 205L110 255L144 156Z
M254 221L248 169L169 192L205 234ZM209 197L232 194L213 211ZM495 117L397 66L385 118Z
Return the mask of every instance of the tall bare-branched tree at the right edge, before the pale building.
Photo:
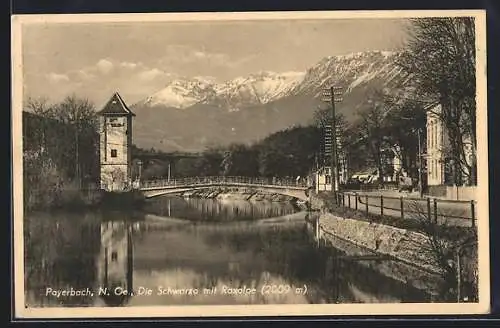
M475 33L471 17L419 18L411 21L408 49L398 60L416 98L440 104L435 114L448 132L448 156L455 163L455 181L462 176L476 184ZM470 143L472 161L465 144Z

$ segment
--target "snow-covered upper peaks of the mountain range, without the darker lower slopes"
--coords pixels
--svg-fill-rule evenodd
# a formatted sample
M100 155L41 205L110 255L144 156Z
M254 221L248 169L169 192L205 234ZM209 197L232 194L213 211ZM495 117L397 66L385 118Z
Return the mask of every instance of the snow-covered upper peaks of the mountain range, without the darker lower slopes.
M235 111L302 93L318 98L329 85L342 86L349 93L373 79L383 79L384 84L390 85L400 74L400 68L393 63L395 57L397 53L388 51L330 56L306 72L262 71L223 83L212 77L179 78L142 103L180 109L209 104Z

